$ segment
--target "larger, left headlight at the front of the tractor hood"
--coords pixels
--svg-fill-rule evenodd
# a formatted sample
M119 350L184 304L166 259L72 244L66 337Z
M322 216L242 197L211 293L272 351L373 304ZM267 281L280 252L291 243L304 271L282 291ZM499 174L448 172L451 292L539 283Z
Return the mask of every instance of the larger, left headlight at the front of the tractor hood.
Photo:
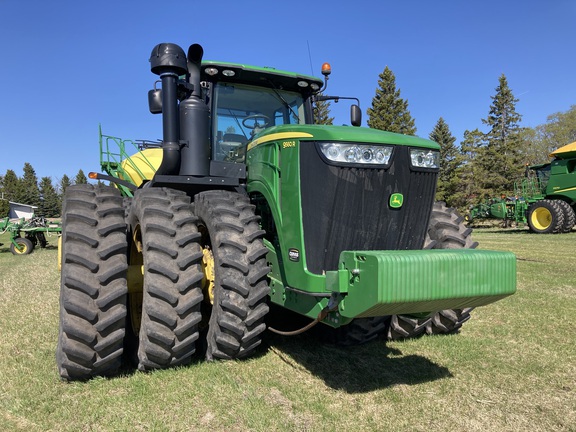
M350 164L388 165L391 146L370 144L320 143L320 150L332 162Z

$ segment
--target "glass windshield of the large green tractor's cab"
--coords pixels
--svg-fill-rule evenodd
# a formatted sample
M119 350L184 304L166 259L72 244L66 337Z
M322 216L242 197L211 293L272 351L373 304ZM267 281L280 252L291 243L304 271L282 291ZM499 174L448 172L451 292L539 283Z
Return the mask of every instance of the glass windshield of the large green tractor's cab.
M305 122L303 99L299 93L218 83L214 98L213 160L243 162L246 143L261 130Z

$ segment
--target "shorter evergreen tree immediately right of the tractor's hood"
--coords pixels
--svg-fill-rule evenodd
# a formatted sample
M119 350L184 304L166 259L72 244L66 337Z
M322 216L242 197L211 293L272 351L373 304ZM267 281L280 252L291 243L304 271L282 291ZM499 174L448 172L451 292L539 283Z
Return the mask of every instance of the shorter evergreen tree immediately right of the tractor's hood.
M445 201L448 207L452 207L458 184L456 170L461 162L458 148L454 145L456 138L452 136L450 128L442 117L434 126L429 137L432 141L440 144L440 173L438 174L436 200Z

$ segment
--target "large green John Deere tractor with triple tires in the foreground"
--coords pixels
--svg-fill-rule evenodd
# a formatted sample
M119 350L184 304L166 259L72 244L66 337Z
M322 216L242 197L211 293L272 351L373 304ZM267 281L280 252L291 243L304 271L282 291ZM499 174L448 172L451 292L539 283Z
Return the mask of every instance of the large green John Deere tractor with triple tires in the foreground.
M161 143L106 150L91 177L113 185L66 190L63 379L245 358L272 319L343 344L449 333L515 292L515 256L475 250L434 202L438 144L361 128L355 104L352 126L315 125L315 102L344 99L320 93L329 68L322 80L202 55L157 45Z

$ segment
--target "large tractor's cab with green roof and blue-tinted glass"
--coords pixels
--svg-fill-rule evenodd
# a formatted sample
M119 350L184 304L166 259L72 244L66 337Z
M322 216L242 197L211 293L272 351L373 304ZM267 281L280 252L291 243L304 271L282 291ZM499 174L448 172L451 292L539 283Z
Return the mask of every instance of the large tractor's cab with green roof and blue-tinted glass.
M246 145L273 126L313 123L316 77L233 63L204 61L201 85L211 112L212 160L245 161Z

